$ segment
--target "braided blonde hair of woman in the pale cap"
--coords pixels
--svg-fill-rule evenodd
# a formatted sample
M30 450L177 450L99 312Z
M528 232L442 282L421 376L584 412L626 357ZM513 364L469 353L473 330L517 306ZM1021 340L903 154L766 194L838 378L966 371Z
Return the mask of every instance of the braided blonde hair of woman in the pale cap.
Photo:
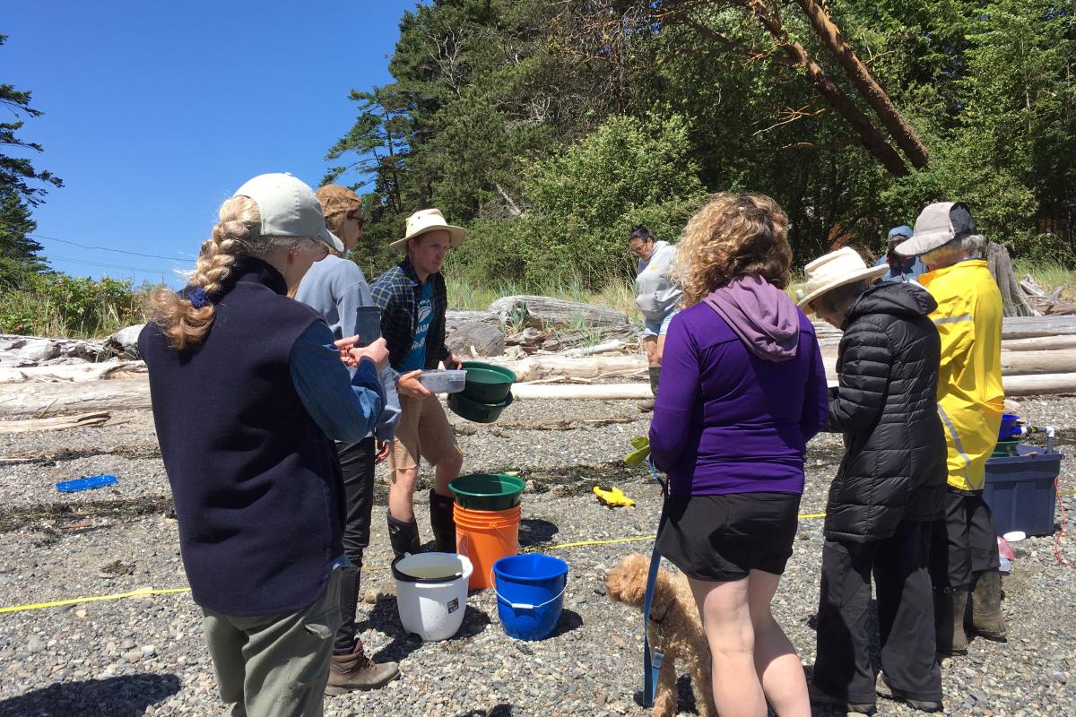
M261 236L261 212L250 197L232 197L221 205L218 221L202 242L198 263L186 288L200 288L209 303L195 306L184 293L158 287L150 297L152 320L158 324L176 350L190 348L213 328L215 299L225 290L236 260L243 256L265 257L280 246L297 244L305 238Z

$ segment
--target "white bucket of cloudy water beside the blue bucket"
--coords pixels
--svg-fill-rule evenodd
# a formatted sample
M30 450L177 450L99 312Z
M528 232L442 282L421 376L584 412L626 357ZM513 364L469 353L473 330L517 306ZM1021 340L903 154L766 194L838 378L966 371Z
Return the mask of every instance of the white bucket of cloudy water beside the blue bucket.
M455 553L405 553L393 561L400 625L425 641L456 634L467 607L470 560Z

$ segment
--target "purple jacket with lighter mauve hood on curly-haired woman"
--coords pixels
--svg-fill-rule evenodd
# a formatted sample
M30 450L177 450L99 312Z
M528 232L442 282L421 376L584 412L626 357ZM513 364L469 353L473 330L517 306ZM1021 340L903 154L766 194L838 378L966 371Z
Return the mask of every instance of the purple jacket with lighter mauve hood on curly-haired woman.
M801 493L827 411L815 327L783 291L740 277L672 318L651 456L676 494Z

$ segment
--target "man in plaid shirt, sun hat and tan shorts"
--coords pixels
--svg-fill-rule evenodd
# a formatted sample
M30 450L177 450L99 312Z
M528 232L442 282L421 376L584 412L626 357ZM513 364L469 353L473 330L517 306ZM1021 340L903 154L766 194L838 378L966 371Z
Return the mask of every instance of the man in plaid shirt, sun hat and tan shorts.
M429 491L429 524L437 549L456 551L449 483L459 476L464 455L441 402L419 376L441 362L448 369L459 365L459 358L444 345L448 295L441 266L449 247L458 246L466 235L462 228L447 224L439 210L415 212L407 219L404 239L390 245L407 256L370 287L381 306L381 335L388 344L388 362L400 374L396 382L399 426L388 453L388 541L396 556L417 553L421 545L413 503L422 458L436 473Z

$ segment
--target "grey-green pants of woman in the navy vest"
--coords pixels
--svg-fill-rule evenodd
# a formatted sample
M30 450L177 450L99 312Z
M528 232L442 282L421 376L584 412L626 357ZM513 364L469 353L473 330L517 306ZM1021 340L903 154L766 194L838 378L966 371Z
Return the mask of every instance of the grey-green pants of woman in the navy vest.
M221 697L232 717L321 717L332 636L340 628L340 576L297 613L235 617L202 608Z

